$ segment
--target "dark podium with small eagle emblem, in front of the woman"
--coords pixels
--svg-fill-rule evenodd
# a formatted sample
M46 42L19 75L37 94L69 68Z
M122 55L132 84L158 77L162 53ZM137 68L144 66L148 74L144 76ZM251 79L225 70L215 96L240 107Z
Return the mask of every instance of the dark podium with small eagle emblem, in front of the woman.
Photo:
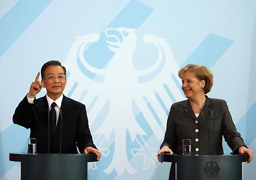
M160 162L175 163L177 180L241 180L242 162L247 155L170 155L160 154Z

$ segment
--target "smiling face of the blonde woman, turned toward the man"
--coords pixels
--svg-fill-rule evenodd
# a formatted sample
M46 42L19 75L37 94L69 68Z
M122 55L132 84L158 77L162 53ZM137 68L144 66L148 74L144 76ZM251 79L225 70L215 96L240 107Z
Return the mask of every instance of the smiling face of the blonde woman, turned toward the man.
M182 90L187 98L204 96L205 80L198 80L193 72L184 72L182 75Z

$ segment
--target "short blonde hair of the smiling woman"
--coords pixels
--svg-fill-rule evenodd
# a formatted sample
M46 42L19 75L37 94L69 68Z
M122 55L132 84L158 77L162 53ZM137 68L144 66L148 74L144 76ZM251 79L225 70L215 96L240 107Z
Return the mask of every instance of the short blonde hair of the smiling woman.
M193 72L193 74L196 76L196 79L205 80L204 94L206 95L208 92L210 92L210 89L212 89L213 85L213 74L206 66L188 64L179 70L178 75L180 79L182 79L184 72Z

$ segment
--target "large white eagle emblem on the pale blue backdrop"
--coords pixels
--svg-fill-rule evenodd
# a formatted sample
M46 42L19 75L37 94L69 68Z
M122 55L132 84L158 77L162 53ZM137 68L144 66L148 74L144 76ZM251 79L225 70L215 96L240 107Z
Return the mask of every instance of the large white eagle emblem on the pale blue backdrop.
M165 130L155 121L155 115L148 108L148 103L152 105L155 114L165 125L167 114L161 108L155 93L158 93L159 98L168 108L173 101L171 98L166 98L169 96L164 87L172 89L176 100L183 99L177 83L171 78L173 76L179 79L177 77L179 66L163 38L143 36L145 43L155 45L158 59L151 67L144 70L135 69L133 65L133 55L137 46L135 30L125 27L105 29L106 45L114 55L103 68L90 65L84 56L86 48L100 39L97 33L77 37L64 61L64 66L69 70L65 92L86 104L90 125L96 119L102 121L97 124L92 134L94 138L97 137L95 143L102 151L102 156L109 156L112 153L113 158L108 168L104 170L107 174L112 173L113 170L119 175L125 170L130 174L136 172L127 157L127 133L131 140L137 141L137 135L146 135L146 132L135 120L136 114L132 104L139 107L156 138L162 142ZM82 69L93 72L95 76L89 78ZM104 142L108 142L109 145ZM110 144L114 144L113 152L109 150ZM132 150L131 154L134 155L135 149ZM156 148L155 152L157 151ZM151 158L156 158L156 154L152 156L154 157Z

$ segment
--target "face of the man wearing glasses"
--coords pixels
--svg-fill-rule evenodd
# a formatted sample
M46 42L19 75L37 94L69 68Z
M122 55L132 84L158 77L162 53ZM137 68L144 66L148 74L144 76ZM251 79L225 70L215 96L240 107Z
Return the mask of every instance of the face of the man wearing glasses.
M42 79L43 87L46 88L47 95L56 100L62 95L67 84L67 79L64 76L64 70L61 66L49 66L44 72Z

